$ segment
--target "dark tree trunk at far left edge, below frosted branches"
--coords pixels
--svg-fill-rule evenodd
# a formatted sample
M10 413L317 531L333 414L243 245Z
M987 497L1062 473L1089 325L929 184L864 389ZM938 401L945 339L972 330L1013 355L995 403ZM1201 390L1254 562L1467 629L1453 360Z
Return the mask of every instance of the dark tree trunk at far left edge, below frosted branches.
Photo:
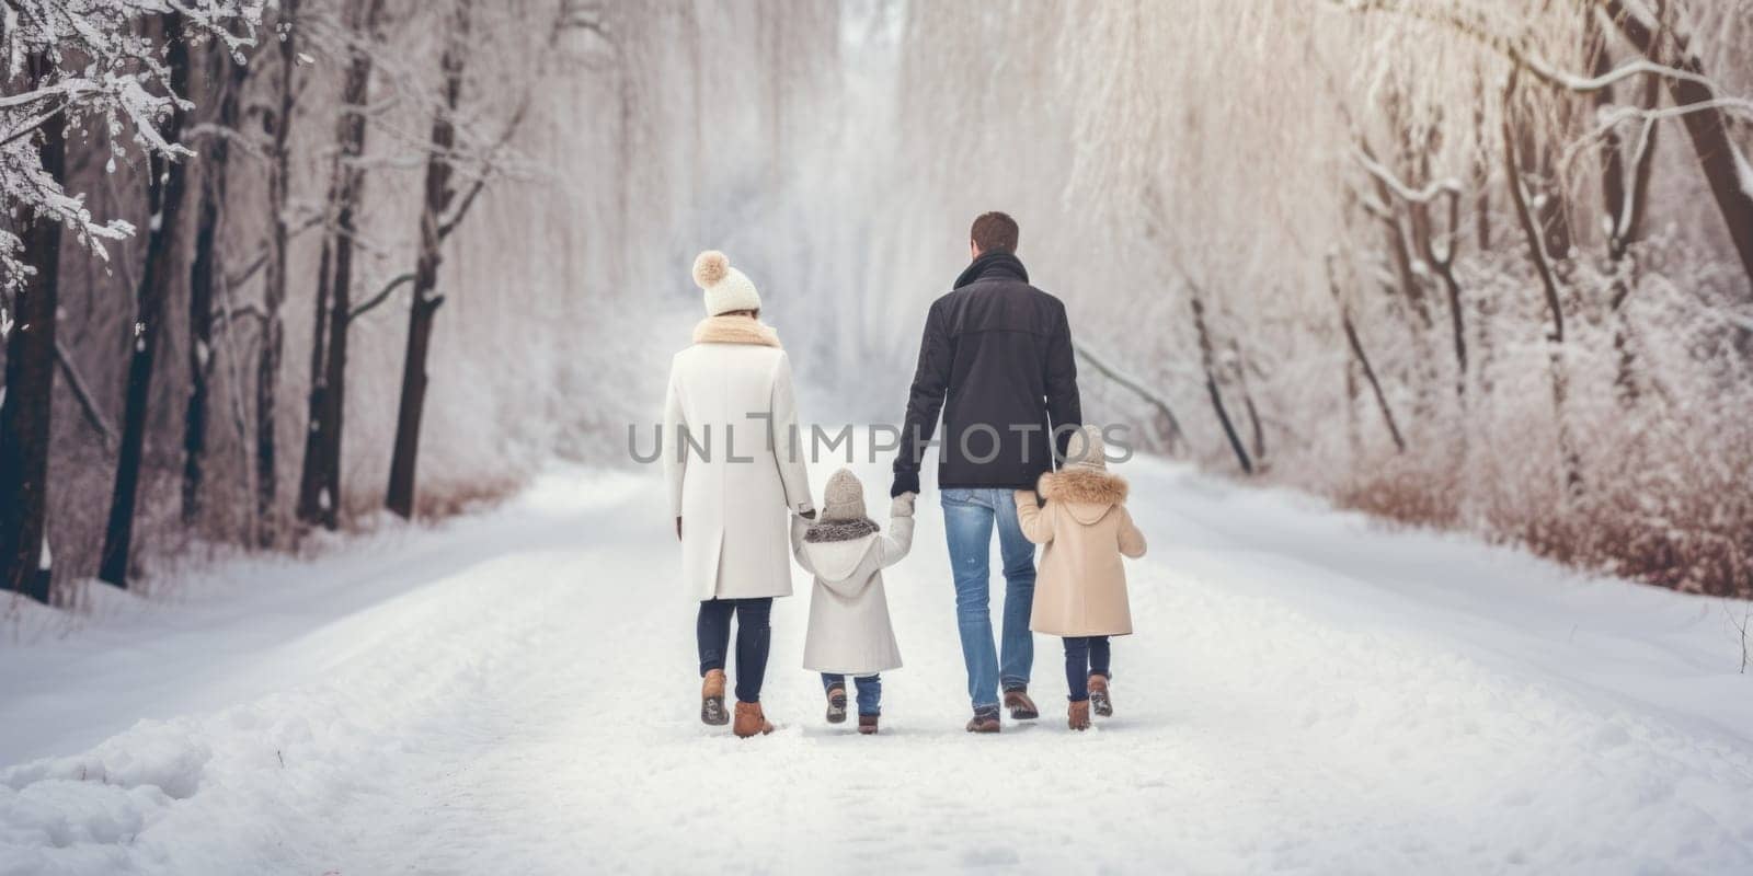
M54 61L32 54L32 79ZM42 126L42 170L67 179L67 126ZM0 585L40 603L49 601L42 569L49 492L49 419L54 410L54 322L60 307L61 223L28 219L25 261L37 272L19 287L14 324L5 338L5 391L0 394Z

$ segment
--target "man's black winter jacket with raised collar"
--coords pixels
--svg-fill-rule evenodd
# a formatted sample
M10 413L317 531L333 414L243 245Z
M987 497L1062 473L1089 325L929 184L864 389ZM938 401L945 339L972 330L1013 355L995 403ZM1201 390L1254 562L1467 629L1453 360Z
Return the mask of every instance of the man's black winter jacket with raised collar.
M940 410L940 487L1033 489L1083 422L1066 305L1010 252L976 258L926 315L891 496L919 492Z

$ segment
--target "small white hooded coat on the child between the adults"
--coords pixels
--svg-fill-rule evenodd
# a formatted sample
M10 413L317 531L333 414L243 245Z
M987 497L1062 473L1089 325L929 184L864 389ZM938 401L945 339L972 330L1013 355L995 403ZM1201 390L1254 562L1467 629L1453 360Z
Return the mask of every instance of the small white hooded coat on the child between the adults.
M852 676L899 669L901 646L896 645L894 625L889 622L882 569L901 562L913 547L913 498L894 499L887 533L843 541L806 541L808 533L808 520L792 519L791 548L798 564L815 576L803 668Z

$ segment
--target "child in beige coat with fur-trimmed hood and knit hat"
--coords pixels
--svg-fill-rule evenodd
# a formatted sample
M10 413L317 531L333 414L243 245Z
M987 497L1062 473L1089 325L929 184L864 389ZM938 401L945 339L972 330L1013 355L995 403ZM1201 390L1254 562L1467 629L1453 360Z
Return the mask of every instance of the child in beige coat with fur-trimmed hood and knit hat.
M1120 557L1145 555L1145 534L1125 510L1125 480L1108 473L1104 454L1101 429L1083 426L1068 442L1064 468L1041 475L1040 498L1015 494L1022 534L1047 545L1029 629L1066 641L1073 731L1089 729L1092 704L1096 715L1113 715L1108 636L1132 632Z

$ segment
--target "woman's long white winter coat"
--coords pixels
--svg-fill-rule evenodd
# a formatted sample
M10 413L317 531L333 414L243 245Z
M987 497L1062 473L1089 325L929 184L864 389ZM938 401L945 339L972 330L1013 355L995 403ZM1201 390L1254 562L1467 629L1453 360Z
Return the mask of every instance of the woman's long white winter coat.
M699 601L791 596L785 520L815 508L791 361L750 317L706 319L694 342L670 361L663 429L682 582Z

